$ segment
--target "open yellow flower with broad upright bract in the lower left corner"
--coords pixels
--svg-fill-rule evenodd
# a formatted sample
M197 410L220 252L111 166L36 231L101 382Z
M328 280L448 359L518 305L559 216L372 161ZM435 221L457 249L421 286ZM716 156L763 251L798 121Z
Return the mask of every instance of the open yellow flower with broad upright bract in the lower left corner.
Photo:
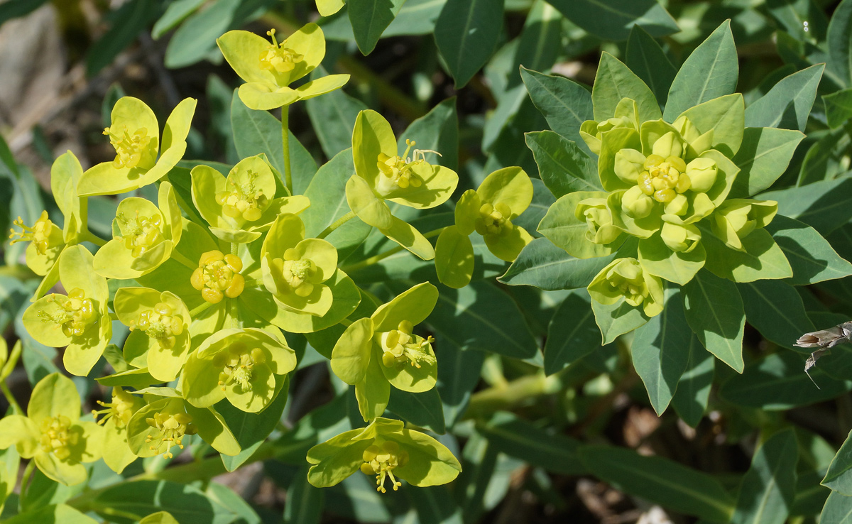
M44 377L32 389L24 415L0 420L0 449L15 446L54 481L72 486L89 477L84 463L101 458L103 428L80 420L80 395L70 378Z

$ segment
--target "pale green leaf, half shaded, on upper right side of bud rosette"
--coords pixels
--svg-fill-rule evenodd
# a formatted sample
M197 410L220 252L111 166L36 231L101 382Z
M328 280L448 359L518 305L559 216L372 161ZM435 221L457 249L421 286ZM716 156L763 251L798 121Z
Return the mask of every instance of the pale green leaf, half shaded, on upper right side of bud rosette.
M796 147L804 135L793 130L746 128L734 164L740 168L729 199L740 199L760 193L784 174Z

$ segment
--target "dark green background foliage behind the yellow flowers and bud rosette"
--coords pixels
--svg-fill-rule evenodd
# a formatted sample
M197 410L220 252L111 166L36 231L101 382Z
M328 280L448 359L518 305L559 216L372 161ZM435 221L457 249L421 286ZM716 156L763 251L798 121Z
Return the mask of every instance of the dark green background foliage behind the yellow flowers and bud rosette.
M314 3L42 4L48 2L0 3L4 32L32 26L32 16L43 13L37 9L50 10L45 41L65 50L56 89L38 112L15 112L3 102L0 225L17 216L32 223L43 209L58 213L44 189L46 166L68 147L84 165L109 159L99 141L101 120L108 124L112 103L125 93L147 101L162 118L181 98L199 98L185 158L231 165L266 153L282 170L278 121L233 94L239 80L222 65L215 39L236 28L262 34L273 26L288 34L317 19ZM735 45L711 37L712 60L687 60L725 20ZM590 103L578 104L582 93L550 75L590 86L602 51L630 66L667 109L677 106L666 97L681 67L696 75L714 67L723 83L745 95L746 126L803 131L797 145L773 145L788 147L792 161L772 187L757 188L765 191L761 198L779 202L780 215L794 219L779 217L768 227L793 266L792 279L734 284L700 277L720 288L708 308L729 312L737 303L732 297L741 297L728 322L739 332L728 338L742 341L742 374L717 362L688 331L671 332L671 347L656 343L666 325L699 321L669 319L679 308L667 307L644 331L602 346L584 290L600 266L544 238L509 266L475 242L474 281L460 290L439 285L440 300L427 320L440 361L438 388L417 397L394 390L389 405L438 434L462 461L463 473L451 485L380 496L366 476L354 475L327 490L311 487L307 449L363 424L354 394L327 371L322 354L329 341L294 337L299 368L289 400L278 406L278 421L245 429L251 435L276 428L252 446L253 454L223 463L202 448L174 464L139 461L123 475L98 463L85 487L61 487L36 473L22 495L9 495L3 518L28 521L42 511L54 515L44 521L72 521L78 517L60 516L70 506L116 522L170 510L181 524L615 522L650 518L662 508L676 522L849 521L852 351L838 346L824 355L810 370L812 383L803 373L808 353L793 351L792 343L852 317L852 270L843 260L852 258L852 2L348 0L319 23L329 40L323 67L352 80L291 112L294 186L309 196L325 193L323 181L335 187L331 182L351 174L351 159L339 153L351 145L358 112L372 108L389 118L398 136L402 130L406 137L423 136L418 147L443 153L441 164L458 168L462 189L510 165L538 175L533 204L518 220L533 233L557 198L581 188L558 174L587 168L567 141L584 148L577 130L590 118ZM195 164L186 160L176 169ZM188 195L189 188L176 184L176 191ZM344 198L325 193L318 205ZM90 199L94 233L110 236L116 204ZM440 210L421 218L407 208L398 214L429 231L452 223L452 207ZM310 222L310 213L322 211L304 215L308 233L327 225ZM58 370L56 350L32 340L21 325L38 283L21 262L24 247L4 245L0 268L0 328L10 348L19 339L23 348L21 365L7 380L22 401L31 384ZM413 262L405 251L365 263L388 248L387 239L371 233L364 245L342 250L341 266L383 300L427 279L438 285L432 265ZM686 289L667 302L693 299ZM743 315L747 323L740 327ZM126 337L123 330L113 326L114 342ZM75 383L89 406L101 399L94 381ZM6 465L0 481L11 487L17 463L8 456L0 462Z

